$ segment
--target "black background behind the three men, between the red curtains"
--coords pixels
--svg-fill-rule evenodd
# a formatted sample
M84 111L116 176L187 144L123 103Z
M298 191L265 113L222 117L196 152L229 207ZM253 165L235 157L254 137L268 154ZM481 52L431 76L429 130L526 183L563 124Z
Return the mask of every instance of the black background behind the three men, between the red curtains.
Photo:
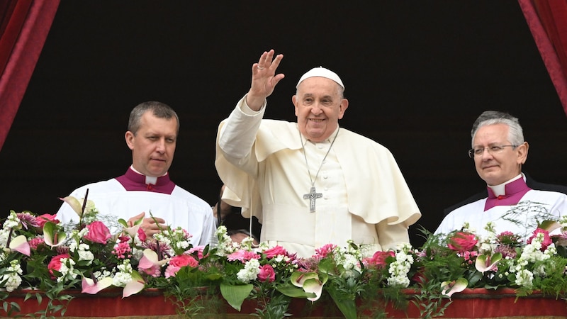
M566 115L517 1L352 2L62 0L0 152L0 213L55 213L58 197L123 174L128 115L149 100L181 118L172 179L212 205L217 125L271 48L286 79L266 117L295 121L301 74L337 72L340 125L393 152L429 230L484 187L466 154L482 111L519 117L524 169L567 184Z

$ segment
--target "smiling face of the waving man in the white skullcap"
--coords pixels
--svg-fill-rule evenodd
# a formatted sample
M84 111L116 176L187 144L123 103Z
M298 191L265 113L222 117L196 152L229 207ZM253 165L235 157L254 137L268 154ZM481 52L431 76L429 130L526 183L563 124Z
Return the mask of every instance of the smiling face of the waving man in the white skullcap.
M325 77L304 79L291 101L299 131L312 142L329 138L349 106L349 101L339 94L339 84Z

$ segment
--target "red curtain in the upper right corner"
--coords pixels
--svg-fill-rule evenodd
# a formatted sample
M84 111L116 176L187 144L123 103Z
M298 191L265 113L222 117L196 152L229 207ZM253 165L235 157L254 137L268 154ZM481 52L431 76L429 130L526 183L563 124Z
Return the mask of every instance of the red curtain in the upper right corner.
M567 0L518 0L567 114Z

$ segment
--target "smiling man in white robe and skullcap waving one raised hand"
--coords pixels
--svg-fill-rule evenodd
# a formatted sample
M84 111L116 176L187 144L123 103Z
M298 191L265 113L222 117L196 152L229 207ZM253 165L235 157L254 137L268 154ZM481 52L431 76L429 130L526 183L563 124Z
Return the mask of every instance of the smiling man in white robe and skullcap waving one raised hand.
M220 123L215 166L223 199L262 223L262 242L310 257L353 240L367 254L408 243L421 216L391 152L339 128L349 106L328 69L303 74L292 97L297 123L263 119L266 98L283 79L283 55L264 52L252 85Z

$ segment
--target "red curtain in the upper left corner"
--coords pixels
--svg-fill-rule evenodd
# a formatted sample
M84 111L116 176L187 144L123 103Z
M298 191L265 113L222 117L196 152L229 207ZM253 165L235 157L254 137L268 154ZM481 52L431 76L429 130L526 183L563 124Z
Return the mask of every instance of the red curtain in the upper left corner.
M0 0L0 150L60 0Z

